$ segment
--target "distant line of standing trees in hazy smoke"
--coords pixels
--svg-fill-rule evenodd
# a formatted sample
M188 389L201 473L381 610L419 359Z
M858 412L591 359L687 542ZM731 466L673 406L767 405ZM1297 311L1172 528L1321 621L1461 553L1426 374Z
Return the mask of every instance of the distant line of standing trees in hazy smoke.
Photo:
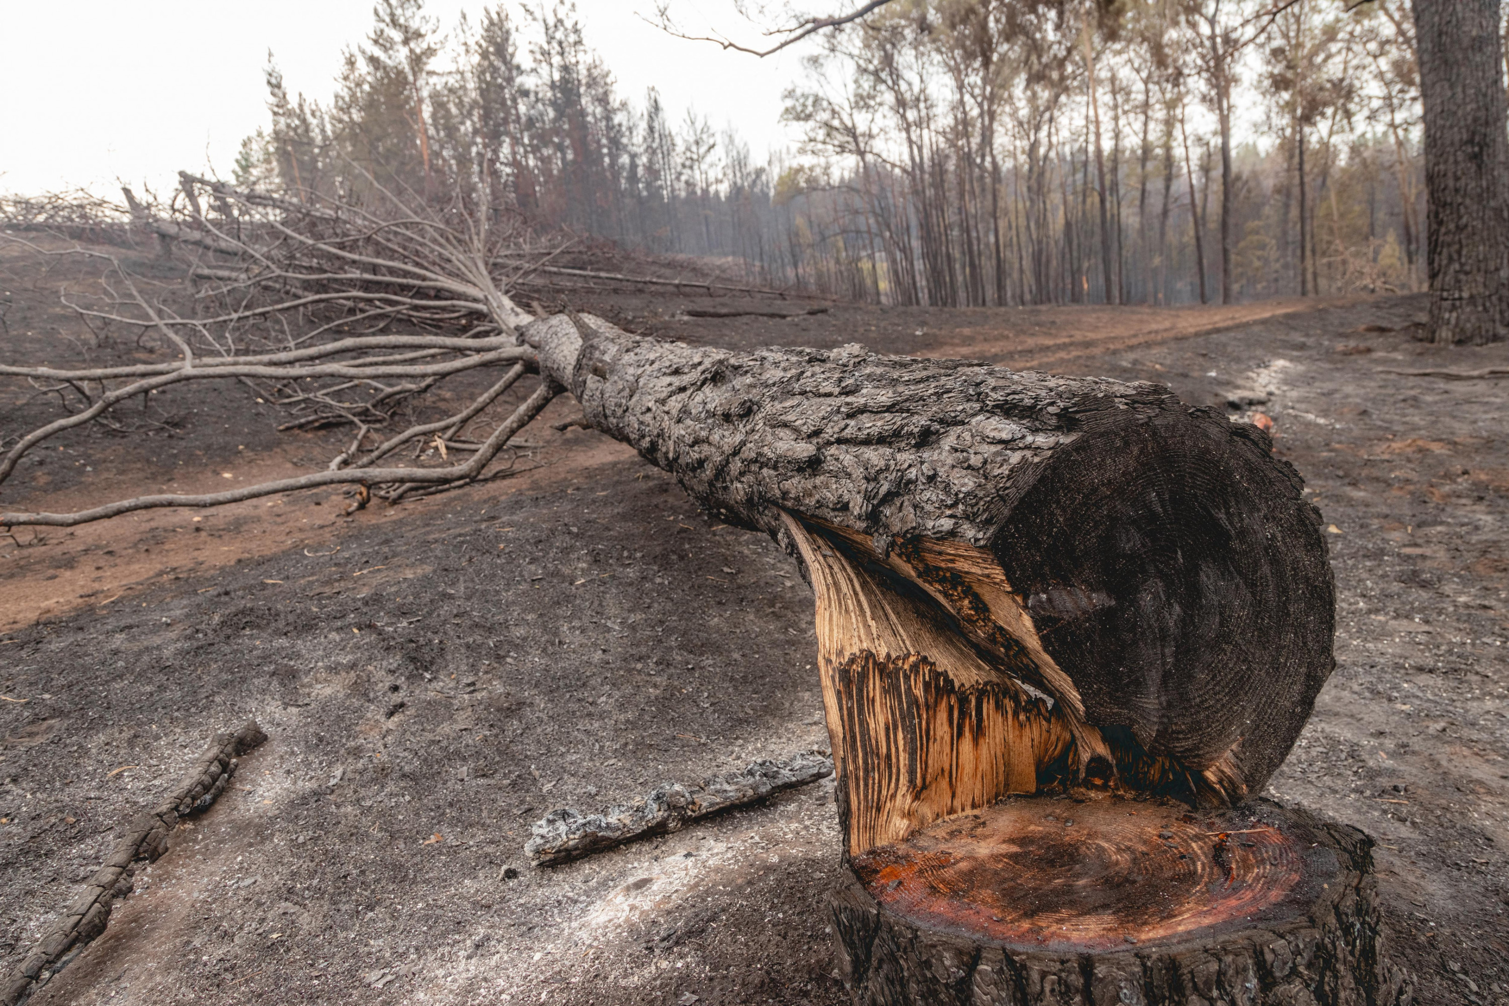
M880 303L1424 282L1403 0L893 0L822 38L788 90L800 148L764 163L653 89L623 100L570 5L447 36L423 0L374 20L326 103L269 63L238 184L394 186Z

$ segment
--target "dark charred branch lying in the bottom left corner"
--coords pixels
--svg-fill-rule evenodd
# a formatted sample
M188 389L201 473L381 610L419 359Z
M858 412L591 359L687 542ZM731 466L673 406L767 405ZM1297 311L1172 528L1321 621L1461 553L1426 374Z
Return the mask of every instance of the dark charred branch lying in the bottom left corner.
M115 902L131 893L136 863L155 861L167 851L167 836L181 817L207 810L225 792L235 774L237 759L267 735L247 719L235 733L217 733L210 747L180 780L172 793L152 810L131 819L122 837L104 863L89 878L83 894L59 917L53 929L38 940L21 967L0 986L0 1006L15 1006L33 986L47 983L62 971L83 947L104 932Z

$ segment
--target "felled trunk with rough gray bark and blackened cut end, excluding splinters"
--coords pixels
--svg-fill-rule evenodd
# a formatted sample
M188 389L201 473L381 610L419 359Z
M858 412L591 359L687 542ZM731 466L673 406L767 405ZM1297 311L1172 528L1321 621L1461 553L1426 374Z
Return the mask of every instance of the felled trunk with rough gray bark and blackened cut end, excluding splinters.
M782 511L868 541L868 561L988 552L1118 751L1234 766L1228 795L1259 792L1331 671L1299 477L1255 427L1165 388L859 345L730 353L590 317L524 338L593 427L788 549Z

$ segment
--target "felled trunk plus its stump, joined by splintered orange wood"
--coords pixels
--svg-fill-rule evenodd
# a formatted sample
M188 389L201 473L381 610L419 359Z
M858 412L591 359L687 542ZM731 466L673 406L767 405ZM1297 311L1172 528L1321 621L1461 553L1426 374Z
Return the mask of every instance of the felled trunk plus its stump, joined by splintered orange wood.
M1367 839L1249 802L1334 667L1320 514L1266 433L857 345L524 338L812 584L859 1001L1399 1000Z

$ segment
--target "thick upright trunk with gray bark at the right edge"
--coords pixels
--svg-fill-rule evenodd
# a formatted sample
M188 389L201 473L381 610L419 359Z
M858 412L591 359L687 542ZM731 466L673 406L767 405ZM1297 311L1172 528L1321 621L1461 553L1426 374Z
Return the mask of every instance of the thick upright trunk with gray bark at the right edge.
M1432 342L1509 324L1509 106L1498 0L1412 0L1424 106Z

